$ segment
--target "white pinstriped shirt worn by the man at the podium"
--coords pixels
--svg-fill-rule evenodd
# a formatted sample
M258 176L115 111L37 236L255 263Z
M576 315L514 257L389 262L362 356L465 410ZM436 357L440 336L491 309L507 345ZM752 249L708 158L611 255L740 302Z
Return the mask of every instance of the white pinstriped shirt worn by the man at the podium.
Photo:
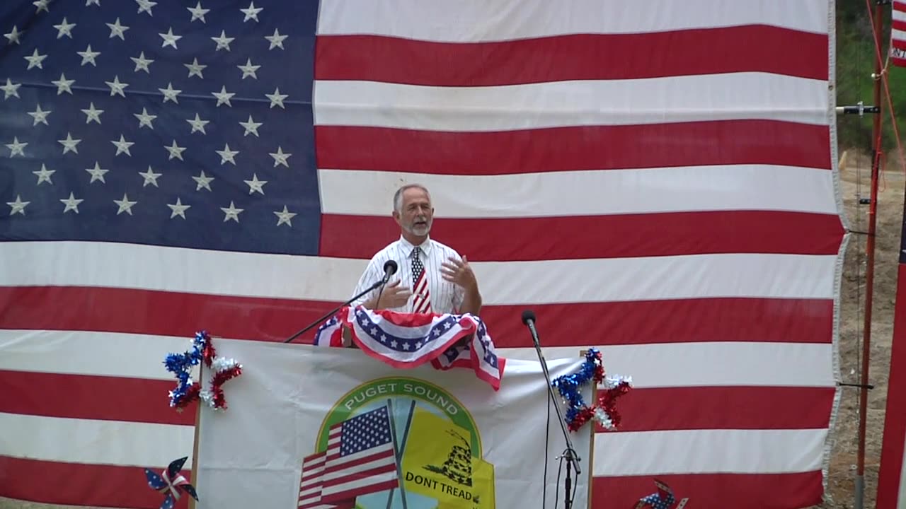
M384 275L384 264L388 260L394 260L399 267L397 273L390 276L388 284L401 280L400 284L403 287L409 288L411 292L412 285L415 283L412 280L412 249L414 247L415 246L408 240L400 236L400 240L381 249L381 251L371 257L368 267L366 267L365 272L361 274L359 284L352 294L358 294L365 288L371 286L371 284L379 281ZM448 245L443 245L435 240L431 240L430 237L422 243L420 247L421 264L424 265L425 277L428 278L428 291L431 296L431 311L439 313L458 312L458 309L462 307L466 291L458 284L450 283L443 279L440 273L440 264L446 262L449 257L456 258L457 260L462 260L462 257ZM373 297L377 297L379 290L380 289L372 290L370 293L366 293L359 300L353 301L352 305L356 306ZM409 302L399 308L386 308L381 306L380 303L379 307L395 312L413 312L412 301L413 297L410 297Z

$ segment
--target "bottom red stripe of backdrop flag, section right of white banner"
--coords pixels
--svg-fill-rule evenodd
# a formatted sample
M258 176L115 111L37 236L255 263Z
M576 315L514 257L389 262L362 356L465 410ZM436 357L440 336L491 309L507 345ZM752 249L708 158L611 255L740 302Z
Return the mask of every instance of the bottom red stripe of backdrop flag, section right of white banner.
M717 453L716 453L717 454ZM652 460L654 461L654 460ZM594 509L634 507L644 496L657 493L654 478L670 485L686 507L733 509L790 509L820 504L824 493L820 471L795 474L675 474L595 477Z

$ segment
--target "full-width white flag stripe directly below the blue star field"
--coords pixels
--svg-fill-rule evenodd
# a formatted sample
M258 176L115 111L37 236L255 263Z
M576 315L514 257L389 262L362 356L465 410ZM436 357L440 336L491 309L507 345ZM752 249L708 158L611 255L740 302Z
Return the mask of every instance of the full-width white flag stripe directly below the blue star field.
M6 242L0 245L0 259L20 267L0 272L0 285L7 286L112 286L333 302L352 296L368 264L93 242ZM485 305L492 305L692 297L833 299L835 263L836 255L728 254L471 265ZM172 347L159 348L163 359Z

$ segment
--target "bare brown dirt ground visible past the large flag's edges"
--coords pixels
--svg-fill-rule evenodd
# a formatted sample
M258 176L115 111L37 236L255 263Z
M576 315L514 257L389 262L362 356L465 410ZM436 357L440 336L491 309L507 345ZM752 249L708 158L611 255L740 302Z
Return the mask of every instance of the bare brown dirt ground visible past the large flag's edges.
M869 197L871 164L869 158L846 152L841 160L840 186L843 205L853 231L868 230L868 206L858 205L859 197ZM881 459L884 406L890 370L893 331L893 306L897 284L897 261L900 249L904 178L895 154L887 161L879 199L875 251L874 306L872 312L872 353L870 381L875 389L869 393L868 425L865 454L865 504L874 506L878 466ZM840 373L844 382L857 383L862 362L862 339L865 298L866 236L853 233L847 248L843 272L840 331ZM858 444L859 389L845 388L833 430L835 443L828 478L827 501L820 509L853 507ZM63 505L32 504L0 497L0 509L63 509Z

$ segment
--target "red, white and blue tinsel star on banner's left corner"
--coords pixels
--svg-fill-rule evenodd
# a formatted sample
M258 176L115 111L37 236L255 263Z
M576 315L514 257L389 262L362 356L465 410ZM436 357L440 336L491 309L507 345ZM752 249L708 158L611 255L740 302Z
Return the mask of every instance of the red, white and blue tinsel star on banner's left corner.
M201 362L214 371L207 389L202 390L198 381L192 379L190 371ZM164 366L174 373L177 387L169 391L170 407L182 411L189 403L201 399L215 410L226 408L223 384L242 374L242 364L234 359L217 357L217 351L207 331L198 331L192 341L192 349L182 353L169 353Z

